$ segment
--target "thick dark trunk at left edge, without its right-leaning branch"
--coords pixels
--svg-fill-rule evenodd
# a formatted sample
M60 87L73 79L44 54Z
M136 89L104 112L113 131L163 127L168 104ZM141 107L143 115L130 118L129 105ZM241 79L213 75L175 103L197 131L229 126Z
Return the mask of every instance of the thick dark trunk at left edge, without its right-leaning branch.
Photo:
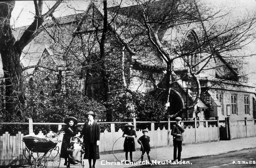
M3 63L5 79L5 102L9 114L17 113L22 119L22 106L24 104L22 70L20 65L20 50L15 43L10 26L11 13L15 1L2 2L0 5L0 53ZM10 116L10 115L8 115ZM9 118L11 119L11 118ZM7 118L8 120L8 118Z

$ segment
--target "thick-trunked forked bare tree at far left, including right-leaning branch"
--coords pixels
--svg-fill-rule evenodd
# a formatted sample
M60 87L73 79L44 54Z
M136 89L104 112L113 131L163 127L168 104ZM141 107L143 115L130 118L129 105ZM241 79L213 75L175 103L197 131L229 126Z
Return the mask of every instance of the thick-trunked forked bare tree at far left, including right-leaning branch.
M35 19L33 23L28 26L25 32L21 35L20 39L16 40L12 34L12 28L10 26L10 18L12 10L15 6L15 1L2 1L0 2L1 9L1 58L3 62L4 78L5 78L5 98L6 98L6 110L10 113L17 113L23 120L22 115L23 104L25 97L23 94L23 80L22 69L20 65L20 55L22 50L28 43L33 40L38 33L43 29L40 27L43 25L46 18L48 18L55 9L60 5L62 1L56 1L52 8L45 14L42 14L43 1L34 1L35 5Z

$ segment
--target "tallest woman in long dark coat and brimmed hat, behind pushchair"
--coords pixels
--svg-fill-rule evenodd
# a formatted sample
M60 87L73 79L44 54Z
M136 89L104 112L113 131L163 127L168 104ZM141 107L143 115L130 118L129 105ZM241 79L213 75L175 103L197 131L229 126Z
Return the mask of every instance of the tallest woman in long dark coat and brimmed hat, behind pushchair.
M90 111L85 117L89 119L84 123L80 137L84 136L84 159L88 159L90 168L95 167L96 159L100 158L100 124L94 121L96 115Z

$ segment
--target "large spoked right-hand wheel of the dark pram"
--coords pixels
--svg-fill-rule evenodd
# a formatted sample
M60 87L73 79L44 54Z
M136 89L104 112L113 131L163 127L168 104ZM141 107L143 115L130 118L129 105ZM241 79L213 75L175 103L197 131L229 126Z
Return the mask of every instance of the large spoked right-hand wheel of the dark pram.
M51 149L45 156L48 168L58 168L60 166L60 153L57 149Z

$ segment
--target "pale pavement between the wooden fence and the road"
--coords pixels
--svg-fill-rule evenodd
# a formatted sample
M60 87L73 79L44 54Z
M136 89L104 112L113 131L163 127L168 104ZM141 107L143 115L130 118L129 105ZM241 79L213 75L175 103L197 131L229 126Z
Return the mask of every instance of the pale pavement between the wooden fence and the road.
M248 137L248 138L240 138L234 139L231 141L218 141L218 142L206 142L206 143L197 143L197 144L185 144L182 146L181 159L185 161L189 161L189 159L193 157L202 157L209 155L219 155L223 153L228 153L232 151L239 151L243 149L252 149L256 148L256 137ZM140 161L140 151L137 150L133 152L133 161ZM150 151L151 160L156 162L166 162L167 160L173 159L173 146L154 148L151 147ZM126 167L140 167L145 166L148 163L144 162L143 164L132 163L125 164L124 160L124 152L101 152L100 159L96 161L96 168L126 168ZM128 159L130 159L128 154ZM147 155L144 154L144 161L148 160ZM122 162L123 161L123 162ZM88 168L88 160L83 160L84 168ZM64 164L64 159L61 158L60 168L66 168ZM120 164L120 165L119 165ZM70 167L78 167L78 165L70 165Z

